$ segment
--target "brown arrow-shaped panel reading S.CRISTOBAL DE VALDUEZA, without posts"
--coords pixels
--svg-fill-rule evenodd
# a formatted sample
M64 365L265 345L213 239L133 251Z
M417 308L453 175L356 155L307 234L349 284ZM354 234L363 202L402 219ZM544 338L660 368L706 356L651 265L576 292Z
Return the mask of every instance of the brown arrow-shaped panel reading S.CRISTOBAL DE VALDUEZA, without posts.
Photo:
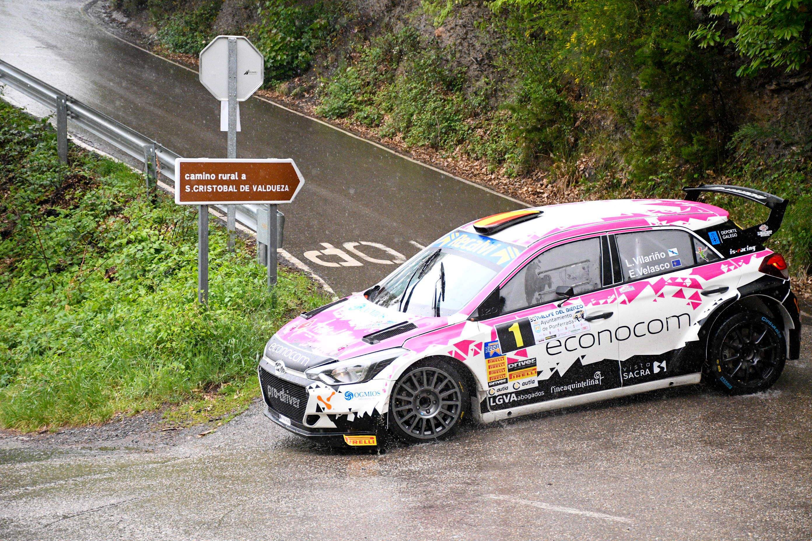
M290 203L303 184L291 159L175 160L177 204Z

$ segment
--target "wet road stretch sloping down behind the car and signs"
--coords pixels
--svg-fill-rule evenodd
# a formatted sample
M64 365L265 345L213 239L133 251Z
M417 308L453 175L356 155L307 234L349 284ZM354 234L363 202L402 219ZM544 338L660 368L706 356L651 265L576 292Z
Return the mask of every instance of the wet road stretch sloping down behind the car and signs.
M226 157L219 102L197 73L110 36L81 11L86 3L0 0L0 58L181 156ZM93 14L94 6L85 11ZM413 243L425 246L456 225L523 206L267 101L242 102L240 119L238 157L296 160L306 183L294 203L282 205L284 247L339 294L371 286L395 268L344 243L379 243L408 257L417 252ZM330 249L323 243L349 259L313 253ZM354 248L370 259L394 259L378 247Z

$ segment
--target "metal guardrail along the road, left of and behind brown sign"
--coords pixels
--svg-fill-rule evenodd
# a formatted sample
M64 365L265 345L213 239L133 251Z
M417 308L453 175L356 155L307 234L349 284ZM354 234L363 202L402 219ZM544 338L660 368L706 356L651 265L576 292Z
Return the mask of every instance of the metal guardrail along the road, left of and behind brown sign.
M173 183L175 182L175 158L180 157L177 152L172 152L169 148L149 139L146 135L141 135L132 128L124 126L118 120L110 118L89 105L84 105L76 98L60 92L50 84L28 75L2 60L0 60L0 84L14 88L16 91L56 112L57 131L61 139L58 149L60 153L64 152L66 159L67 120L70 120L76 126L126 152L128 156L135 158L145 168L149 167L149 162L152 161L151 157L154 156L154 159L158 161L160 173ZM66 144L63 145L62 140L66 141ZM224 205L211 206L214 206L223 214L227 212ZM259 206L256 204L238 205L236 211L237 221L240 221L249 230L256 232Z

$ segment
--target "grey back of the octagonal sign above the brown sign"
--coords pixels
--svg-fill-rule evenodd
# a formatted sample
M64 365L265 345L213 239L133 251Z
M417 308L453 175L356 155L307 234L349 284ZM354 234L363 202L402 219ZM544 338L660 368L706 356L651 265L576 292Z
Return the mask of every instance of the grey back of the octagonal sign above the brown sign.
M220 101L228 100L228 38L237 40L237 101L245 101L265 78L265 58L245 36L217 36L200 54L200 79Z

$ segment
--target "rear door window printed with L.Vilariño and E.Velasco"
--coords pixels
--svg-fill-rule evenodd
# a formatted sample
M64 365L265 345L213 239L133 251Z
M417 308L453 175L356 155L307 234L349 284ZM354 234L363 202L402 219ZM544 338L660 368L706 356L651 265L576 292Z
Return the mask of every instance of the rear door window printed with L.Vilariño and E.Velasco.
M695 264L693 240L685 231L639 231L618 234L615 238L624 281L672 273ZM712 253L707 251L706 256Z

